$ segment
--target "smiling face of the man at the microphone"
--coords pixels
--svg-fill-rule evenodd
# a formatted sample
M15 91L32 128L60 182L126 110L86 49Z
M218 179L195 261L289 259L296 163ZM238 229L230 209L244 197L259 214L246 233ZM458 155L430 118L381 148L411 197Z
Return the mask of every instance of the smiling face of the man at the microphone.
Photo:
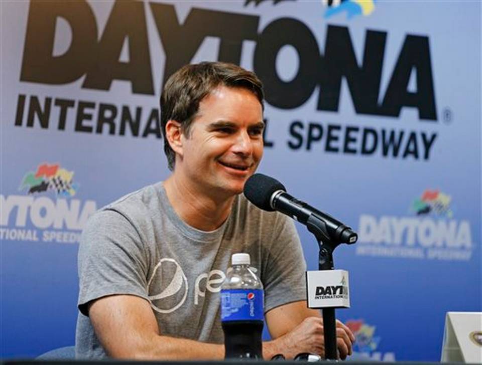
M208 195L243 192L263 155L263 128L263 109L251 91L217 87L199 103L188 136L181 136L176 172Z

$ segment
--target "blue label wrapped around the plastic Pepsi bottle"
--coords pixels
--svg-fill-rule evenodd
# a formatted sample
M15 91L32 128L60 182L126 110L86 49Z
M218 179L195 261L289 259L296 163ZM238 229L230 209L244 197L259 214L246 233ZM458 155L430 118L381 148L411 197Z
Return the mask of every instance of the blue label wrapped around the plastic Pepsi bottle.
M221 321L263 320L263 289L222 289Z

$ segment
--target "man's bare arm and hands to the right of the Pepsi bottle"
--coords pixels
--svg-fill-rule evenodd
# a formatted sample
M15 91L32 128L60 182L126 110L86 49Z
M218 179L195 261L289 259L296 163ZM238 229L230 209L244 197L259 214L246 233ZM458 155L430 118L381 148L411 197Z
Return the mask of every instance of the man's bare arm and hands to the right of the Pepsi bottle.
M282 353L293 358L298 353L310 352L324 356L323 319L318 310L310 309L306 301L297 301L273 308L266 313L266 322L273 341L266 342L265 358ZM336 340L340 358L351 355L353 333L340 321L336 321Z

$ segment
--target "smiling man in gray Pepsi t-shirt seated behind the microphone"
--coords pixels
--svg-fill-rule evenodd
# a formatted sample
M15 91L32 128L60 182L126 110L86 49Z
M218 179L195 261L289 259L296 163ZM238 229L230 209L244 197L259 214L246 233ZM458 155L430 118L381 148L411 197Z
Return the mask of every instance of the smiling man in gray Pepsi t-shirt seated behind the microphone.
M84 229L77 356L223 358L219 290L236 252L251 255L265 288L274 339L264 357L323 354L293 222L240 195L263 155L259 79L230 64L185 66L165 85L161 124L171 176L104 207ZM338 322L337 336L345 358L353 334Z

